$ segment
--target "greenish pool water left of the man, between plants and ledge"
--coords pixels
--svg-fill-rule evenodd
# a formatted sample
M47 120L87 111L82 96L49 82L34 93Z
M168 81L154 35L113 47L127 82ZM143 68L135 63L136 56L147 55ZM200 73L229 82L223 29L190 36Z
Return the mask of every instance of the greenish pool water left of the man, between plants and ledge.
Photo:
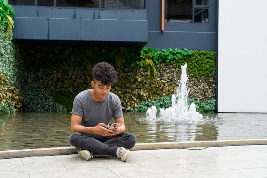
M0 117L0 150L70 146L70 114L24 112Z

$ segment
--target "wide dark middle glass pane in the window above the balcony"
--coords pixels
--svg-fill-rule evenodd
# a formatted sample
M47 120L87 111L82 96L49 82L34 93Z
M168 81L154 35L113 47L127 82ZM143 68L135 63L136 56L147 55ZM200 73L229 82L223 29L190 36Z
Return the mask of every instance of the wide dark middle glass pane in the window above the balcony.
M98 8L98 0L56 0L56 6Z

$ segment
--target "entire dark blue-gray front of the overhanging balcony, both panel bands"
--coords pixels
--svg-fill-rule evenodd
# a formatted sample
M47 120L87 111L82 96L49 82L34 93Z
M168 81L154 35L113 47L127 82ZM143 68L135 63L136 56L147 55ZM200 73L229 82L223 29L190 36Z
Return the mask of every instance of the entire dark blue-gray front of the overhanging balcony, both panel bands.
M14 7L14 10L14 39L118 42L148 40L146 10L53 7Z

